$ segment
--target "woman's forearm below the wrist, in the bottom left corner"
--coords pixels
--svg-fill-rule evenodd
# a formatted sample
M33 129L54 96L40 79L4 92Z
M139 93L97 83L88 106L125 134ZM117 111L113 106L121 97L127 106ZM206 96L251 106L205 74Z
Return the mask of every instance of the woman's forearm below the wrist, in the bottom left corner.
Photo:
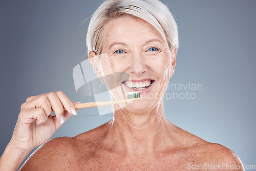
M17 170L31 151L19 151L10 141L0 158L0 170Z

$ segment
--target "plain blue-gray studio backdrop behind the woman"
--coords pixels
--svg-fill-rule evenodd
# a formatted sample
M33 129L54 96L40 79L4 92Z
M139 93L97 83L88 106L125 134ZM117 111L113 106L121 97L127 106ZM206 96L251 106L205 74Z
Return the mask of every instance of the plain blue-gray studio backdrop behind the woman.
M162 1L176 18L180 49L173 84L200 83L195 99L168 99L170 122L256 164L256 1ZM26 98L61 90L72 100L72 70L87 59L86 33L94 1L1 1L0 154L11 139ZM83 23L83 24L82 24ZM173 90L167 90L172 93ZM177 91L185 93L186 91ZM82 109L52 138L73 137L109 121L96 108Z

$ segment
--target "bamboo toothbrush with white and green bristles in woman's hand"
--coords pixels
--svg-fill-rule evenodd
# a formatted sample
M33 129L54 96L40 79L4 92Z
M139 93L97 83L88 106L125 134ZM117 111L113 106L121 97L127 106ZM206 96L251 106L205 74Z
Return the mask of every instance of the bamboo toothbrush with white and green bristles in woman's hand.
M126 93L126 99L124 99L124 100L94 101L94 102L88 102L88 103L75 104L74 106L75 106L75 109L82 109L82 108L91 108L91 107L96 107L96 106L101 106L101 105L134 102L134 101L140 101L140 100L141 100L140 92L129 92L129 93ZM66 109L64 108L64 110L66 110ZM54 112L54 111L52 111L52 112Z

